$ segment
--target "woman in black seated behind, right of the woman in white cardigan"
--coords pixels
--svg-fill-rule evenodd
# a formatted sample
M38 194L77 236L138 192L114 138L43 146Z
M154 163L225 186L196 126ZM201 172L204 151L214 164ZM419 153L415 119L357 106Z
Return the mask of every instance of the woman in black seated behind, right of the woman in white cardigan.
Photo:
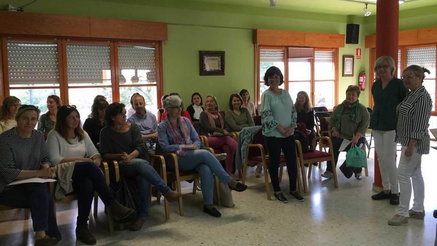
M100 131L106 126L105 111L108 105L108 102L103 98L94 99L91 106L91 118L87 118L83 123L83 130L88 133L97 149L100 148Z

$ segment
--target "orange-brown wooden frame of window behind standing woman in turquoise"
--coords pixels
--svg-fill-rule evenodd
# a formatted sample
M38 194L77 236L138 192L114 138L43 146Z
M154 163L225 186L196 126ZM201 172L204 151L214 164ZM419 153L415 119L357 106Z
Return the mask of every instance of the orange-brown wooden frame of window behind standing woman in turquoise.
M255 98L255 105L258 105L259 103L261 103L261 99L260 99L260 84L263 83L264 81L261 80L260 78L260 50L261 49L277 49L277 50L284 50L284 89L288 91L289 89L289 82L296 82L296 81L289 81L289 65L288 65L288 48L312 48L315 51L332 51L334 52L334 91L335 91L335 95L334 95L334 105L338 104L338 48L317 48L317 47L296 47L296 46L269 46L269 45L254 45L254 49L255 49L255 93L256 96ZM309 93L309 97L310 100L312 102L312 104L314 105L314 88L315 88L315 82L323 82L323 81L332 81L332 80L315 80L314 78L314 63L315 63L315 59L312 59L311 61L311 77L310 77L310 93ZM301 82L301 81L299 81ZM294 100L294 98L293 98Z

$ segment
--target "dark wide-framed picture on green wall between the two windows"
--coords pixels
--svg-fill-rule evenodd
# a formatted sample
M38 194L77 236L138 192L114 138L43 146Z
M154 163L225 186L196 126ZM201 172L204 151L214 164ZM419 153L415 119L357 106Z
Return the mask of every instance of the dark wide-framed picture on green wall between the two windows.
M224 75L224 51L199 51L200 76Z

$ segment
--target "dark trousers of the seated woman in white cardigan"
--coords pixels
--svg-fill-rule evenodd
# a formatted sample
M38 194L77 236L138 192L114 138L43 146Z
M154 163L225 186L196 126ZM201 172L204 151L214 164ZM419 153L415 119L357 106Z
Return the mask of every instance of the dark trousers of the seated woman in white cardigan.
M74 165L73 189L77 193L77 226L87 226L94 191L108 206L114 197L106 186L105 177L100 168L92 162L80 162Z

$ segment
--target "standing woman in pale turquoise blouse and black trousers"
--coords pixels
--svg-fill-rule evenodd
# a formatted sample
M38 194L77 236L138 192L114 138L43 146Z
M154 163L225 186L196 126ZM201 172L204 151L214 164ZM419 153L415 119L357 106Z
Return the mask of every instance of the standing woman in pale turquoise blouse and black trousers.
M297 114L289 92L279 88L282 83L284 83L284 76L281 70L270 67L264 75L264 84L269 86L269 89L261 95L260 108L262 132L270 159L269 174L275 199L282 203L288 202L279 187L278 168L282 149L290 179L289 194L297 201L303 202L304 198L296 189L296 144L293 133Z

